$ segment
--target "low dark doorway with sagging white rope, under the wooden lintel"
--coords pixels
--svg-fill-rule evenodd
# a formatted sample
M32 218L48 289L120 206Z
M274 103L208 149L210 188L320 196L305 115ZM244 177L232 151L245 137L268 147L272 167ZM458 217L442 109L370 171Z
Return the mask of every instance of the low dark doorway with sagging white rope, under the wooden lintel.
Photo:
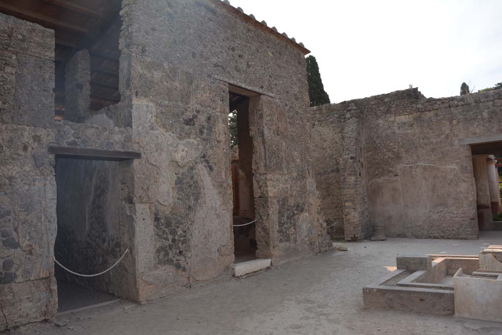
M56 259L80 274L108 269L123 252L120 173L117 161L56 158ZM119 266L97 277L81 277L55 265L58 312L115 300Z

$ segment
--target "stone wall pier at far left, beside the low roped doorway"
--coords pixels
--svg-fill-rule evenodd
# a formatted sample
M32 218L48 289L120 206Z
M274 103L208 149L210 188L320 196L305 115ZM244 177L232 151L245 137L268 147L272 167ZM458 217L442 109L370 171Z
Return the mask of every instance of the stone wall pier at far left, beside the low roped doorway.
M0 14L0 331L57 309L54 32Z

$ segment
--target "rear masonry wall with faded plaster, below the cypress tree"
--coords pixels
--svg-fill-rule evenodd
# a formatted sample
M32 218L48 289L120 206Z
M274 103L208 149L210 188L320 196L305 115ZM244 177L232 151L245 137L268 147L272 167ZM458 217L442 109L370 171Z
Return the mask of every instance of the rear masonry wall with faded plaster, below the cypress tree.
M313 143L324 141L330 122L333 129L342 127L345 133L353 133L347 130L351 124L342 120L353 115L354 107L360 112L356 138L363 156L362 203L366 197L368 204L365 235L377 226L391 237L477 238L472 158L464 139L502 132L502 91L435 99L425 98L415 88L312 108ZM348 145L340 143L343 148ZM333 167L339 166L339 157L331 158ZM316 178L330 165L322 164ZM341 169L333 179L343 180L346 171ZM340 194L339 186L332 185L332 192ZM349 179L342 188L357 185ZM347 220L343 195L342 200L343 208L327 205L328 211L322 214L324 220L326 213L343 214L347 231L353 221ZM361 217L365 210L363 205Z

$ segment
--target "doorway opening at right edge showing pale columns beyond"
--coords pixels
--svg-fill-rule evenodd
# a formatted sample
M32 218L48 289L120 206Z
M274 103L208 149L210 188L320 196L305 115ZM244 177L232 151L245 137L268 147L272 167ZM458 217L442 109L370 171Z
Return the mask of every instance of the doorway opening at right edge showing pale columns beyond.
M500 207L502 141L473 144L471 151L479 230L502 230Z

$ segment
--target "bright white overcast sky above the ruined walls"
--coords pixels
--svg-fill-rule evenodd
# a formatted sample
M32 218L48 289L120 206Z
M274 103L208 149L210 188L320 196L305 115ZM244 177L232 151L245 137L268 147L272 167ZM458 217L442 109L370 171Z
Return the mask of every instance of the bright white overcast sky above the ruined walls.
M311 50L331 102L502 81L502 0L230 0Z

